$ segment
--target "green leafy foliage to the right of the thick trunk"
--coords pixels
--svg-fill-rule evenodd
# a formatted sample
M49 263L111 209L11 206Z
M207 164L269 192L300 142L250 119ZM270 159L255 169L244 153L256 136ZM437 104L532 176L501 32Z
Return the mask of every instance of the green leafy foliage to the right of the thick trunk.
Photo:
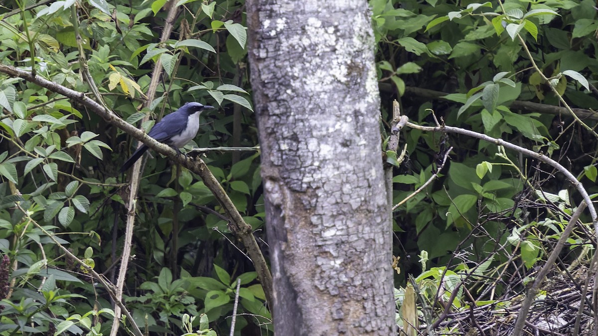
M593 2L370 4L383 106L399 99L402 114L416 123L435 126L438 120L566 162L590 194L596 193L596 133L591 130L596 118L573 120L550 109L566 103L592 113L598 106L591 85L598 70ZM417 71L399 70L404 65ZM526 103L536 105L523 109L532 106ZM587 130L576 127L584 123ZM395 204L441 169L437 182L395 212L401 274L420 274L415 282L431 307L437 300L446 304L454 288L462 290L456 282L471 291L476 307L490 302L486 288L494 297L523 291L528 270L550 251L549 239L560 236L579 195L566 193L553 167L494 143L406 127L401 140L407 143L408 160L393 179ZM454 147L450 163L439 167L449 146ZM580 233L570 241L585 245L590 239ZM569 249L584 258L590 253L578 245ZM414 258L422 252L428 253L430 270L422 270ZM484 280L476 274L480 270L497 279ZM398 277L398 284L405 282ZM459 292L450 304L466 310L474 298Z

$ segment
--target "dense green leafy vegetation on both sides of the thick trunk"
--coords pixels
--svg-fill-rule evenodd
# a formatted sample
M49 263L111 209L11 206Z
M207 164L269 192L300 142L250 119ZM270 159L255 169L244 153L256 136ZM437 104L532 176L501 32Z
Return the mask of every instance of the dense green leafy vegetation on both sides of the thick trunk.
M182 10L160 43L172 5ZM596 193L593 1L370 5L384 140L396 99L414 123L434 126L437 118L541 152ZM202 116L188 149L253 147L244 26L243 1L234 0L9 0L0 5L0 63L85 93L145 130L184 102L209 103L218 111ZM155 97L144 105L160 69ZM111 298L58 244L115 281L129 195L117 172L132 140L83 105L4 74L0 106L0 254L8 256L0 261L0 335L108 334ZM573 118L568 106L587 111ZM394 212L397 288L414 274L430 303L441 279L448 279L446 301L460 282L478 302L522 291L529 270L550 253L548 240L559 238L581 201L578 191L553 167L469 136L404 127L404 145L401 163L400 150L387 153L397 165L395 204L440 173ZM271 334L257 274L212 193L188 170L154 157L139 187L124 286L136 323L151 332L226 334L240 279L236 335ZM259 154L208 151L204 160L255 235L266 239ZM582 219L591 222L587 214ZM593 227L584 228L568 240L565 263L591 257ZM470 301L463 292L452 300L457 310Z

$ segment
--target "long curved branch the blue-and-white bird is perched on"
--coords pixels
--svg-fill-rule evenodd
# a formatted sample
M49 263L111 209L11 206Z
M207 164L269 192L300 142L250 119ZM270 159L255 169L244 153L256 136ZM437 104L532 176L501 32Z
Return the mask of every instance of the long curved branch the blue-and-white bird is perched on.
M269 303L273 302L272 276L270 274L268 265L266 264L266 259L264 259L264 256L260 251L260 246L258 246L258 243L256 242L252 233L251 225L247 224L243 220L243 217L240 215L239 211L236 209L236 207L234 207L233 201L231 201L227 196L224 188L222 188L218 180L216 180L216 178L212 175L208 169L208 166L206 166L202 159L196 158L196 160L191 161L188 160L185 155L179 155L174 149L170 148L170 146L164 145L163 143L157 142L155 139L150 138L143 130L140 130L122 120L120 117L118 117L118 115L114 114L114 112L103 108L102 105L99 105L99 103L90 99L84 93L72 90L71 88L54 83L53 81L48 81L39 75L33 76L30 74L30 72L14 68L14 66L0 64L0 72L4 72L11 77L23 78L26 81L38 84L41 87L47 88L55 93L62 94L63 96L69 97L70 99L85 105L88 109L90 109L90 111L93 111L100 117L104 118L104 120L106 120L108 123L118 127L118 129L123 130L123 132L127 133L133 138L143 142L150 149L165 155L175 163L181 164L181 166L199 175L206 184L206 187L212 191L212 194L216 200L218 200L218 203L221 204L222 209L227 217L230 218L231 222L229 228L231 233L233 233L243 242L251 261L254 263L255 271L258 273L258 279L260 279L260 282L264 288L266 300Z

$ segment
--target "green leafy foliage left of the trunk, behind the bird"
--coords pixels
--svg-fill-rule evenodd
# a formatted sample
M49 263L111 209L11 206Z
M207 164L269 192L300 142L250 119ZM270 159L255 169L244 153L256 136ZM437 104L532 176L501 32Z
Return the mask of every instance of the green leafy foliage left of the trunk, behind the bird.
M181 15L170 39L160 42L167 5ZM229 0L134 7L126 1L9 1L0 7L0 62L90 93L130 123L148 114L160 118L187 101L219 106L217 115L202 119L190 147L254 146L241 6ZM163 81L145 107L152 71L160 69ZM0 253L10 258L13 281L1 304L0 334L105 334L111 323L98 317L114 316L108 295L97 292L86 271L63 258L42 229L114 281L125 215L125 185L116 172L129 155L129 139L60 94L5 75L0 83ZM233 126L234 120L243 123ZM152 123L140 126L148 130ZM256 158L225 153L205 160L257 229L263 209L254 205L261 204ZM208 188L160 157L148 160L145 173L125 290L138 325L179 334L198 328L199 334L228 333L236 283L212 288L202 280L227 274L228 280L242 279L237 313L255 316L237 316L236 334L270 328L251 262L224 239L227 222Z

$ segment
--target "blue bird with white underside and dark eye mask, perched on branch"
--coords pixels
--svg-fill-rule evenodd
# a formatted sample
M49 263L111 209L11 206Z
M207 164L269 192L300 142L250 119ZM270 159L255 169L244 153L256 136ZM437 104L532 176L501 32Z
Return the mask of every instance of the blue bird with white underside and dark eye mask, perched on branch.
M197 131L199 130L199 115L205 109L213 108L214 106L203 105L197 102L185 103L178 110L164 116L162 120L155 124L149 131L148 136L171 146L179 154L182 154L179 148L187 145L197 135ZM147 150L148 147L146 145L139 146L120 168L120 173L129 170Z

